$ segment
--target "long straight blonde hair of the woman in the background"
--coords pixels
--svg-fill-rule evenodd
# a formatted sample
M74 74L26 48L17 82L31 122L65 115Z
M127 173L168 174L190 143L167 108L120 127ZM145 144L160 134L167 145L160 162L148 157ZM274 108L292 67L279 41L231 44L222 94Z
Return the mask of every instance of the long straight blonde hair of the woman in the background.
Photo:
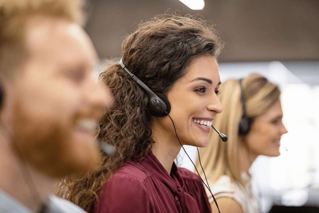
M278 86L259 74L251 74L243 79L242 88L250 123L279 100ZM239 121L243 115L239 80L225 81L221 84L220 90L219 99L224 110L214 118L212 125L226 134L228 141L222 141L216 132L211 131L208 146L199 148L201 163L209 181L216 182L221 175L228 175L231 181L236 180L244 185L239 165L239 144L242 136L238 131ZM197 157L196 167L198 166L200 167ZM200 175L203 175L202 171Z

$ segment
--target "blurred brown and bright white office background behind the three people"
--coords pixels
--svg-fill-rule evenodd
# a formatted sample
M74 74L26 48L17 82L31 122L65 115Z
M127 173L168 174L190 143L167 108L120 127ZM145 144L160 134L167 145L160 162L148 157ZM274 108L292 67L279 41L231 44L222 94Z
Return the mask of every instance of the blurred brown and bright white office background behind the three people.
M123 37L157 14L211 21L225 41L222 81L257 72L282 91L288 133L281 155L259 156L251 167L261 212L319 212L319 1L197 0L195 7L203 2L192 10L179 0L91 0L85 30L103 60L121 57ZM186 150L195 160L195 150ZM179 159L194 170L183 151Z

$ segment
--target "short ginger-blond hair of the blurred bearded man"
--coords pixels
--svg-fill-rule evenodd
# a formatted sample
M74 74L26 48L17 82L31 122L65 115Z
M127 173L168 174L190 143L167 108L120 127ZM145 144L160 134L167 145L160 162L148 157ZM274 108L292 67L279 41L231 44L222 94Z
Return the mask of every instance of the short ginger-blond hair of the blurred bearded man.
M82 0L1 0L0 74L11 77L27 57L25 27L28 19L42 15L81 24Z

